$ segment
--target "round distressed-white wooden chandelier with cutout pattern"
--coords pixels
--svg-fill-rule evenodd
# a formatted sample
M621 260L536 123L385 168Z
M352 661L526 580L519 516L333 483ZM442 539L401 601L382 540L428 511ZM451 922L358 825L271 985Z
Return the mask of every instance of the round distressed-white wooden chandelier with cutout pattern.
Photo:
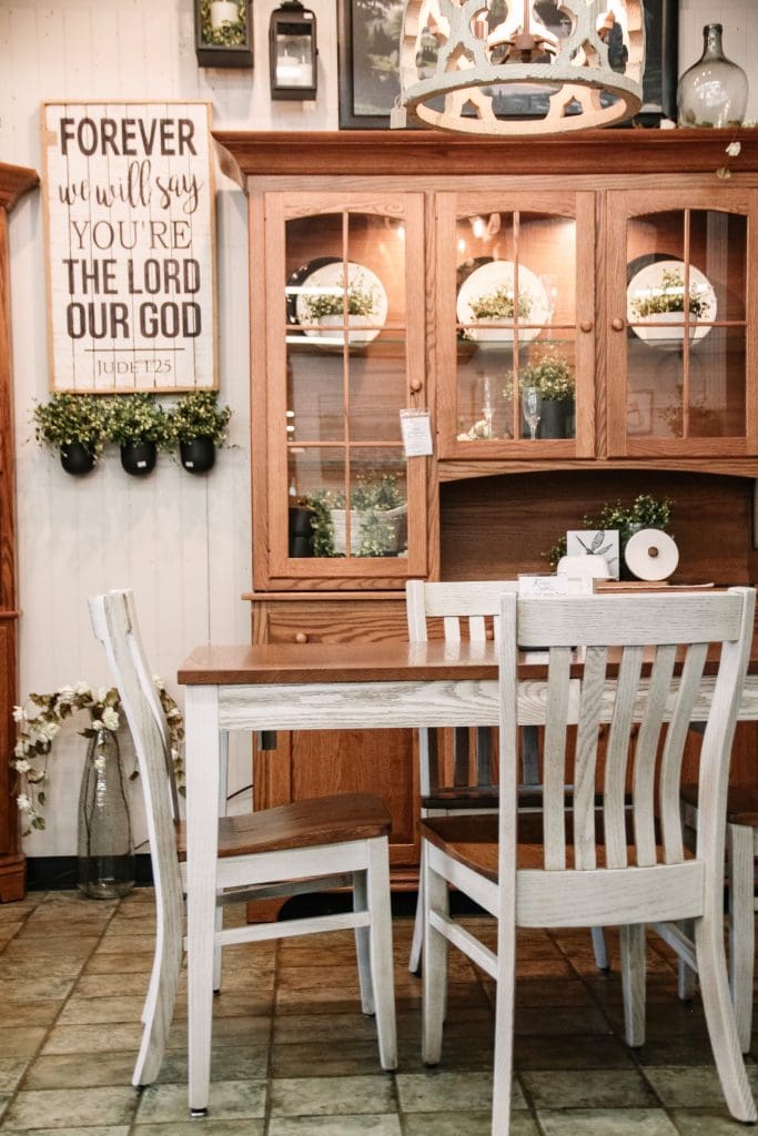
M406 0L391 125L481 135L610 126L642 103L642 0Z

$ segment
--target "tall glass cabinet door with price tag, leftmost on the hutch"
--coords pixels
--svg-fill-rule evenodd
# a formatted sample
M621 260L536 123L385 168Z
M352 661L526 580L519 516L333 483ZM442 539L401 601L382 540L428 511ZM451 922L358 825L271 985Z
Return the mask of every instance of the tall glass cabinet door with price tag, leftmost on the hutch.
M286 194L270 209L273 567L401 582L426 563L425 459L406 459L400 429L425 399L420 195Z

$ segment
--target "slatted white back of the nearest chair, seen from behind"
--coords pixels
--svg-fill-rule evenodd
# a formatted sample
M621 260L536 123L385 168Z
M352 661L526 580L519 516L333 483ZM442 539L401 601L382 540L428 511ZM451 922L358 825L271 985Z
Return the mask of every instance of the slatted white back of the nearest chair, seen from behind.
M705 721L699 799L709 826L707 834L699 827L697 854L708 847L718 862L714 850L724 838L731 745L750 657L753 608L752 588L517 601L519 646L549 645L547 678L530 682L520 695L522 716L528 711L530 721L541 716L545 725L547 870L570 867L569 846L573 867L580 871L682 862L680 785L684 744L695 718ZM510 634L505 618L503 600L503 638ZM501 642L501 660L505 646ZM584 649L582 667L575 649ZM513 692L501 685L501 700L509 699ZM569 726L576 727L575 791L567 800ZM605 776L598 803L601 738ZM500 760L502 812L508 786L517 776L517 761L502 749L502 738ZM503 777L503 768L508 776ZM631 826L625 807L628 786Z

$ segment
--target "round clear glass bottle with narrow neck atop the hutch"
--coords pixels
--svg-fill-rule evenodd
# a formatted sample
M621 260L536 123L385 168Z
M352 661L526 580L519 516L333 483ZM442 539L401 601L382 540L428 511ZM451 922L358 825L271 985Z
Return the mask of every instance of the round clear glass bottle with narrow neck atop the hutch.
M748 106L748 76L724 55L723 26L706 24L702 56L676 87L680 126L740 126Z

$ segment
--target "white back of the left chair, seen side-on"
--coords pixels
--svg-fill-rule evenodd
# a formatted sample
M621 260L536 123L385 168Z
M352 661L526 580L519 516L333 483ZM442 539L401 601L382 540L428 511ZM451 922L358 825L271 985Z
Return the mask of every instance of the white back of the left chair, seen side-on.
M124 592L95 595L89 601L95 638L106 651L114 684L126 713L144 799L156 900L159 910L175 908L181 919L182 884L170 778L164 734L155 709L155 687L141 651L133 602ZM131 612L131 613L130 613Z

